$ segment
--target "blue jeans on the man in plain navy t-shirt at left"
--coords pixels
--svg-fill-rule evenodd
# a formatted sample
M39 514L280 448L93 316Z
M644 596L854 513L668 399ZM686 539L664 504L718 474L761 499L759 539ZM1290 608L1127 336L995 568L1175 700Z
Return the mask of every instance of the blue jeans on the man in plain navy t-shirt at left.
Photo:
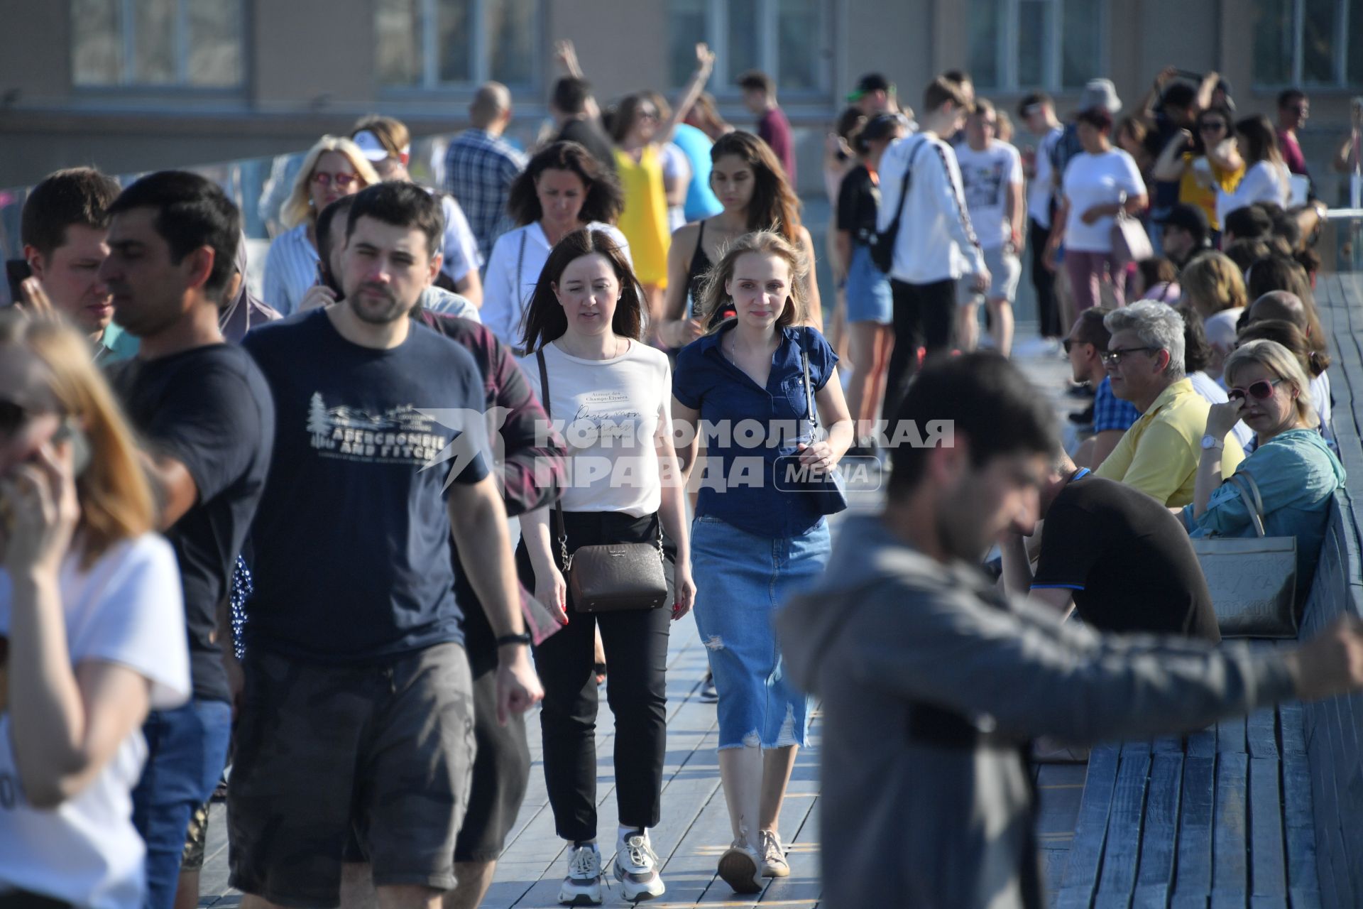
M144 909L172 909L194 810L213 796L228 759L232 705L192 699L153 710L142 726L147 766L132 790L132 823L147 844Z

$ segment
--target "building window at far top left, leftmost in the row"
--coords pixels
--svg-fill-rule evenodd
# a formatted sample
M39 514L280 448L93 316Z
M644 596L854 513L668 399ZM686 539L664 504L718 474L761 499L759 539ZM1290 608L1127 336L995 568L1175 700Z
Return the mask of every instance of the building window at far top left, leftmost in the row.
M241 84L241 0L70 3L76 86Z

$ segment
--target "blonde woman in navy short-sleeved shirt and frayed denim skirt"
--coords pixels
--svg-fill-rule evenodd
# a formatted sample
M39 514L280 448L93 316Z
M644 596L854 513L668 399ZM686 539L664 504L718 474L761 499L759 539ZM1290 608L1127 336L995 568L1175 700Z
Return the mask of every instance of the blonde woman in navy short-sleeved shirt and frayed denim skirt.
M812 496L778 489L774 463L799 454L827 470L852 442L837 356L801 324L807 273L800 251L776 233L736 240L706 278L702 322L724 305L736 316L677 354L672 383L684 470L699 435L706 446L691 529L695 621L720 692L720 780L733 826L720 876L737 893L791 872L777 823L806 741L808 699L784 676L771 617L829 557L827 522ZM806 421L801 352L826 440Z

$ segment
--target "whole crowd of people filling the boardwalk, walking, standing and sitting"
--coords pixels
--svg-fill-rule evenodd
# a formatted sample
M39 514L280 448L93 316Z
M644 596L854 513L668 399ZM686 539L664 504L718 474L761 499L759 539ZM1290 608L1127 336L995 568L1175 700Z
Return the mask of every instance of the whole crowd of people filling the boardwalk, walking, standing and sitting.
M410 180L393 117L319 139L277 174L259 298L202 176L80 168L29 194L33 277L0 313L0 906L194 905L229 762L251 909L476 906L537 703L559 901L601 904L607 875L660 897L668 641L692 611L717 874L740 894L791 874L818 695L830 906L1040 905L1033 736L1363 687L1358 621L1221 645L1191 544L1255 533L1223 482L1249 477L1298 540L1300 604L1345 482L1319 213L1288 176L1304 95L1274 129L1235 120L1216 74L1165 72L1116 125L1099 79L1066 125L1024 99L1020 151L968 74L916 117L867 75L825 159L845 382L770 76L737 79L748 132L703 94L703 45L671 106L602 110L556 57L555 131L522 153L483 86L444 187ZM1041 334L1092 388L1070 451L1006 361L1028 243ZM886 442L939 421L949 444ZM834 546L837 465L878 446L885 511ZM602 551L620 564L594 572Z

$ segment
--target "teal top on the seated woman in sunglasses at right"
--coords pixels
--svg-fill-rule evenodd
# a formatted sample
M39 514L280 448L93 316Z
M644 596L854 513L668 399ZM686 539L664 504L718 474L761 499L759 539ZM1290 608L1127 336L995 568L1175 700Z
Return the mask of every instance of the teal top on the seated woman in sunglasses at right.
M1311 589L1321 542L1330 521L1330 499L1344 485L1344 466L1315 429L1288 429L1261 444L1240 462L1236 473L1254 478L1264 500L1264 533L1296 537L1298 601ZM1223 482L1201 518L1183 508L1191 537L1253 537L1254 522L1239 487Z

